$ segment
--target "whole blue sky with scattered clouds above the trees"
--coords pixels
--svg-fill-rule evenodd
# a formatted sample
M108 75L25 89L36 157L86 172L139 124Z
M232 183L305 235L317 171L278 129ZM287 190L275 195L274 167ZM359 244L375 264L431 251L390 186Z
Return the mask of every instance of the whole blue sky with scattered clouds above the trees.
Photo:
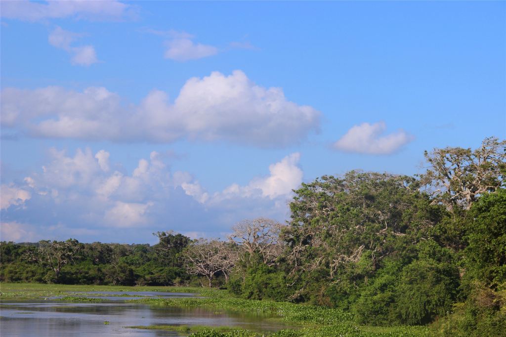
M506 2L0 3L0 240L225 238L506 138Z

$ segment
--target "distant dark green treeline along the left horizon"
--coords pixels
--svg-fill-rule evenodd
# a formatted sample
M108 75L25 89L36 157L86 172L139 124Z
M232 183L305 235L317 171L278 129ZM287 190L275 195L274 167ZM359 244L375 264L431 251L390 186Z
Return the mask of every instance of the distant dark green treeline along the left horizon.
M0 243L0 280L63 284L179 285L190 281L181 252L190 239L154 233L149 244L43 240Z

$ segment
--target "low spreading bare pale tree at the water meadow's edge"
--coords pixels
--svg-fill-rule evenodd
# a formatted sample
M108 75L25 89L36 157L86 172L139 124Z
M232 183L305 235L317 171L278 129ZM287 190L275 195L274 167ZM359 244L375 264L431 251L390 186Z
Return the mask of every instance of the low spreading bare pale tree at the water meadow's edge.
M185 268L191 275L203 275L209 287L214 276L222 272L225 281L237 260L235 249L227 242L219 240L198 239L186 247L184 254Z

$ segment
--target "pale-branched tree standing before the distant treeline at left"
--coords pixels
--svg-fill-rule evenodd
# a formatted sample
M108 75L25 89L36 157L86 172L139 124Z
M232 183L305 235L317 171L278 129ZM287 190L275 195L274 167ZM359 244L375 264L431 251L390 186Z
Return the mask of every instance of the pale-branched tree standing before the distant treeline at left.
M27 258L37 261L45 268L50 268L55 273L55 281L58 282L63 266L78 258L79 241L75 239L66 241L40 240L38 243L37 251L28 251Z

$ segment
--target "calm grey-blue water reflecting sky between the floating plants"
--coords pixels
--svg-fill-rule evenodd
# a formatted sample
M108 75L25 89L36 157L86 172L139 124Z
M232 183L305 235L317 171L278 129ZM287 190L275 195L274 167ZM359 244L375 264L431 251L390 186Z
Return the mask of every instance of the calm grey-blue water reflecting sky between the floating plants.
M90 293L90 292L88 292ZM99 292L116 295L125 292ZM133 297L189 296L189 294L162 294L159 292L126 292ZM79 294L76 294L79 296ZM109 297L107 297L109 298ZM276 331L286 327L268 320L269 316L234 314L206 309L157 307L140 303L123 303L130 297L114 297L104 303L68 303L32 301L2 303L0 306L0 335L16 336L182 336L181 332L126 328L129 325L229 325L255 331ZM110 321L109 325L104 321Z

